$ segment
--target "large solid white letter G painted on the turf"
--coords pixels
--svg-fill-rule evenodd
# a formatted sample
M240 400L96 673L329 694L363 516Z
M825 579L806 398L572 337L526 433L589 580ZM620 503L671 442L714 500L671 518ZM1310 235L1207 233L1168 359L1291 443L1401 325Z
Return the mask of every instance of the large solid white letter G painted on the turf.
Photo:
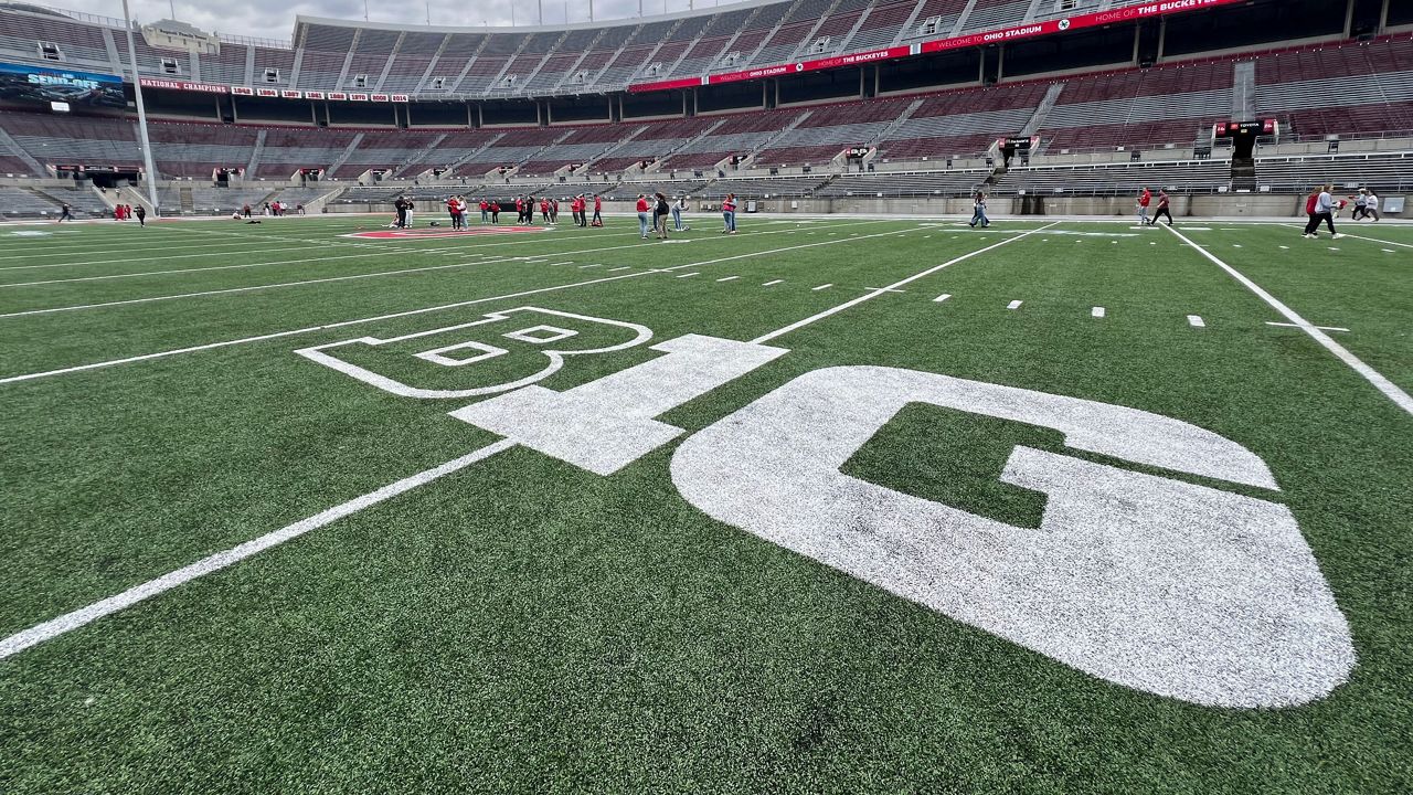
M673 481L722 522L1129 687L1287 706L1348 676L1348 625L1283 505L1016 447L1002 480L1048 497L1040 529L1026 529L842 474L907 403L1276 488L1249 450L1188 423L876 366L803 375L698 431L674 454Z

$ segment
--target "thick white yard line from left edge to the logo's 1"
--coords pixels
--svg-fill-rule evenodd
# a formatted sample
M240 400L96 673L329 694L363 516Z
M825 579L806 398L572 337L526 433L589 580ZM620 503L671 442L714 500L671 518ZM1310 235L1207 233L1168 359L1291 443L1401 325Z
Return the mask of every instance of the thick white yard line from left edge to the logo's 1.
M30 646L42 644L44 641L57 638L58 635L62 635L65 632L78 629L79 627L90 624L99 618L103 618L105 615L112 615L113 613L117 613L119 610L123 610L126 607L131 607L146 598L151 598L164 591L170 591L177 586L189 583L198 577L211 574L212 571L219 571L220 569L225 569L233 563L239 563L253 555L259 555L290 539L297 539L304 533L308 533L309 530L317 530L345 516L357 513L365 508L377 505L379 502L384 502L403 492L411 491L422 484L428 484L437 478L449 475L459 470L465 470L471 464L475 464L478 461L485 461L486 458L495 455L496 453L509 450L514 446L516 443L509 439L503 439L500 441L487 444L486 447L482 447L480 450L476 450L473 453L468 453L461 458L452 458L445 464L432 467L430 470L422 470L415 475L410 475L397 482L384 485L383 488L365 494L363 497L355 497L348 502L335 505L333 508L315 513L308 519L301 519L292 525L285 525L278 530L266 533L263 536L250 539L242 545L202 557L201 560L189 566L184 566L175 571L162 574L155 580L148 580L140 586L127 588L123 593L110 596L88 607L75 610L72 613L65 613L58 618L51 618L49 621L45 621L42 624L35 624L28 629L16 632L14 635L10 635L8 638L0 641L0 659L16 655Z

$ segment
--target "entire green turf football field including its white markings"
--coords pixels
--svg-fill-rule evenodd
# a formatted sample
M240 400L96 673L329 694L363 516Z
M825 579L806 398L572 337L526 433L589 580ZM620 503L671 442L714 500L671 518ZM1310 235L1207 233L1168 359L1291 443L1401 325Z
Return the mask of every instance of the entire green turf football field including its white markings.
M0 792L1413 789L1413 226L379 222L0 228Z

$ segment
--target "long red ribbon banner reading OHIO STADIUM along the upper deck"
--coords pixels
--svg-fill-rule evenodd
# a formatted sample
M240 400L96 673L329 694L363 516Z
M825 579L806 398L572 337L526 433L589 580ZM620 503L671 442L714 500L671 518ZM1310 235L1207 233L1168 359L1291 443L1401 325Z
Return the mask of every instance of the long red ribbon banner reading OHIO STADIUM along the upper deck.
M1044 20L1024 25L1012 25L1006 28L981 31L968 35L958 35L954 38L938 38L907 47L869 50L866 52L851 52L846 55L835 55L832 58L820 58L817 61L801 61L797 64L759 66L756 69L745 69L740 72L723 72L719 75L706 75L702 78L682 78L675 81L637 83L637 85L630 85L627 89L629 92L636 93L647 91L668 91L674 88L729 83L738 81L755 81L762 78L791 75L797 72L814 72L818 69L834 69L838 66L852 66L876 61L892 61L896 58L904 58L907 55L918 55L924 52L945 52L948 50L961 50L964 47L999 44L1002 41L1016 41L1022 38L1033 38L1037 35L1050 35L1050 34L1067 33L1072 30L1082 30L1098 25L1128 23L1133 20L1142 20L1146 17L1159 17L1164 14L1176 14L1183 11L1198 11L1202 8L1214 8L1218 6L1232 6L1245 1L1246 0L1166 0L1161 3L1145 3L1140 6L1125 6L1123 8L1111 8L1108 11L1096 11L1092 14L1077 14L1074 17L1065 17L1060 20Z

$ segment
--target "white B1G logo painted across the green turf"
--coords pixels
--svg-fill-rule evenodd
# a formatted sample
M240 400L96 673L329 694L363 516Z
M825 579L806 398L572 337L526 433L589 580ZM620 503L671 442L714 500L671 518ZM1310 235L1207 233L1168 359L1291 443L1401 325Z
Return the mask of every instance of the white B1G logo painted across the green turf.
M555 337L568 328L519 328L538 317L629 337L609 347L545 348L541 355L554 364L530 376L512 368L496 383L449 392L415 390L329 354L437 337L437 345L408 348L407 356L469 378L468 365L503 354L487 356L480 341L448 344L448 334L514 325L504 338L554 337L545 347L569 340ZM451 416L610 475L685 433L658 416L788 352L687 334L651 345L657 358L581 386L534 383L564 356L622 351L650 337L637 324L521 307L421 335L300 354L397 395L493 395ZM1013 448L1002 480L1046 495L1039 529L845 475L844 463L910 403L1054 429L1067 447L1106 463ZM1355 662L1345 618L1290 511L1183 480L1276 492L1266 464L1170 417L928 372L836 366L801 375L697 431L670 470L678 492L708 516L1142 692L1224 707L1291 706L1328 695Z

